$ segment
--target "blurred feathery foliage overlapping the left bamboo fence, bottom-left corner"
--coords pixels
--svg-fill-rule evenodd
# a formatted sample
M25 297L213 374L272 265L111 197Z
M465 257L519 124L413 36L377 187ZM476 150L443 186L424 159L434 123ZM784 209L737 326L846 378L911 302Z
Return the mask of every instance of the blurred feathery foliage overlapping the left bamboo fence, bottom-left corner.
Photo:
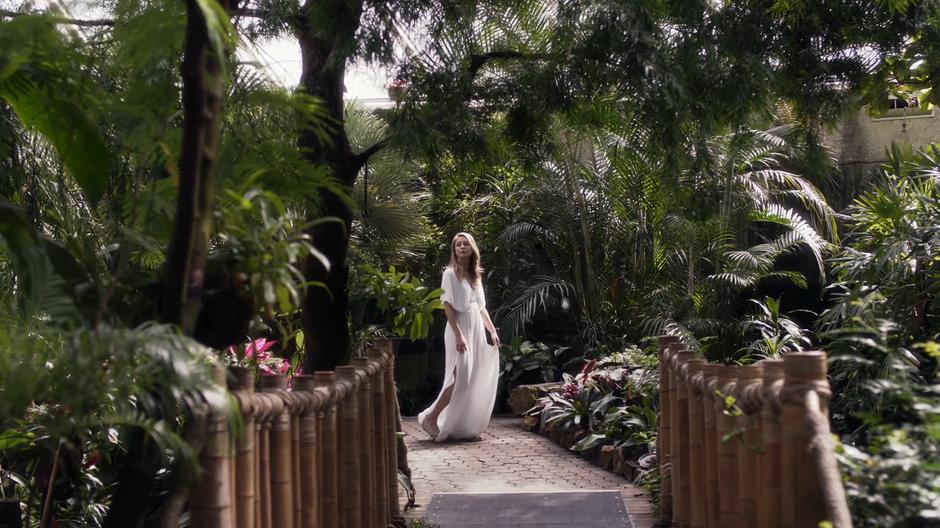
M143 436L161 466L192 474L182 421L192 427L210 406L231 413L214 354L170 327L10 330L0 332L2 485L15 483L29 523L101 525L115 491L105 476L130 463L127 438Z

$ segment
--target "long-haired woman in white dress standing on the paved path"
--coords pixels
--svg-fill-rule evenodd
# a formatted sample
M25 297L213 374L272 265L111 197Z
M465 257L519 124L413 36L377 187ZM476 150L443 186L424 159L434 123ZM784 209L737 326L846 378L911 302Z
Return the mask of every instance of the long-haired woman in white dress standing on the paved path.
M474 440L490 423L499 378L499 336L486 311L480 250L469 233L457 233L450 243L450 265L441 288L447 329L444 331L445 381L418 423L438 442ZM484 327L493 346L486 342Z

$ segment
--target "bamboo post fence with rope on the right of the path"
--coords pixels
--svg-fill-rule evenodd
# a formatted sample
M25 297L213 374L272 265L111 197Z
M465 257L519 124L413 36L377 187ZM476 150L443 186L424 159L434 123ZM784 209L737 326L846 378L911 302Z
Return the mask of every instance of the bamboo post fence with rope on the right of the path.
M680 528L852 520L829 431L822 352L707 364L660 339L660 514Z

